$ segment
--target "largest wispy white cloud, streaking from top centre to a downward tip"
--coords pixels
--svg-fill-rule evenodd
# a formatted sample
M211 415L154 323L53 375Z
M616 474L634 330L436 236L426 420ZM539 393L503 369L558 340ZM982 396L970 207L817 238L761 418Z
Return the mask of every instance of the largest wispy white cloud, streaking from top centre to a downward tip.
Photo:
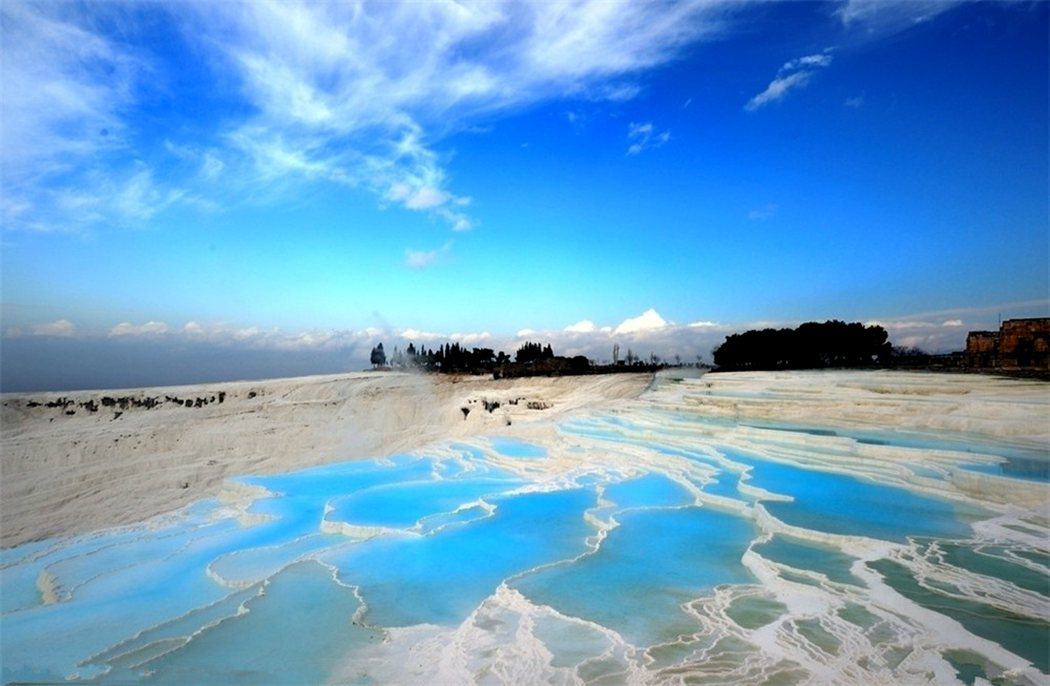
M437 152L447 132L551 98L633 97L636 74L718 34L728 11L714 5L200 3L188 15L256 111L228 140L261 180L364 188L462 231L475 222Z

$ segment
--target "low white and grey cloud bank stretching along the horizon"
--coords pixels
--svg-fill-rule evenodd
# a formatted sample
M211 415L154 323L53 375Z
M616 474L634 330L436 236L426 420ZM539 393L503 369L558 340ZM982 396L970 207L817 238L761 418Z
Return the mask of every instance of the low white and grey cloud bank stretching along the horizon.
M967 332L982 328L990 314L1027 316L1048 307L1050 299L1006 303L864 324L883 327L895 346L949 352L962 349ZM713 350L731 334L798 324L676 324L651 308L616 326L584 319L561 330L522 329L513 335L381 327L285 331L198 321L175 327L155 320L122 321L108 332L89 332L60 319L27 331L7 328L0 388L64 391L342 373L366 369L370 351L380 342L390 351L404 350L410 344L433 349L458 342L513 354L526 341L542 341L551 344L560 355L585 355L597 362L611 361L613 346L617 346L622 357L632 352L643 360L656 355L667 362L710 363Z

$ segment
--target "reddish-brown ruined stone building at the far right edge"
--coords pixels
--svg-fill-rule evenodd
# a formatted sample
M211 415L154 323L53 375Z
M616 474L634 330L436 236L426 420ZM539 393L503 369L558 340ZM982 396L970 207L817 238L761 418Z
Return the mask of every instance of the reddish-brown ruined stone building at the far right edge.
M967 367L1050 370L1050 317L1007 319L999 331L966 336Z

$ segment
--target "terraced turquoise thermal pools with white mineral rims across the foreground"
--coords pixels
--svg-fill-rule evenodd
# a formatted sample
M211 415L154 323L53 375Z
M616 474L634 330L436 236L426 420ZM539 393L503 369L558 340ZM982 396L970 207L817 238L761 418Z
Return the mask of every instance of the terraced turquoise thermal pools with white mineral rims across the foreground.
M668 395L5 549L3 681L1050 681L1046 522L949 484L1045 456Z

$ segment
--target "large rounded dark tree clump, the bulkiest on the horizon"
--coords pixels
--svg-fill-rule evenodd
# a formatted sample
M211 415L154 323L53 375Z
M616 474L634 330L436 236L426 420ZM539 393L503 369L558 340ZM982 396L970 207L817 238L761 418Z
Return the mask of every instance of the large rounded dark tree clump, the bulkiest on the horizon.
M831 320L797 329L762 329L727 336L714 351L718 369L776 370L870 367L889 359L892 349L879 326Z

